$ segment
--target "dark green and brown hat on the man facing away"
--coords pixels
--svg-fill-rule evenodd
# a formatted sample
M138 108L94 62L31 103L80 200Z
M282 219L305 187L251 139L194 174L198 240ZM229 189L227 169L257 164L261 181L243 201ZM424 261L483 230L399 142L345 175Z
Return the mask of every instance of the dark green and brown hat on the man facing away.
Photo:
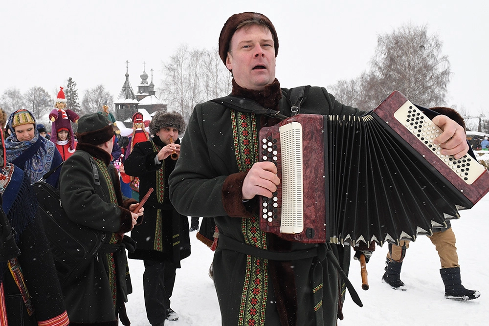
M100 113L85 114L78 120L76 138L79 143L100 145L114 136L112 124Z

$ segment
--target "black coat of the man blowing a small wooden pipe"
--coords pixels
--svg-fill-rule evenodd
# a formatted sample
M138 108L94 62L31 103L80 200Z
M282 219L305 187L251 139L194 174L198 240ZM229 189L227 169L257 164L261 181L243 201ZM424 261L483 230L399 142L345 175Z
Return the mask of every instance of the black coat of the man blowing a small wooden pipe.
M157 136L152 141L137 143L124 162L125 173L139 177L139 200L146 195L149 188L155 189L144 204L142 223L131 231L131 238L136 240L136 250L129 254L129 258L170 260L179 268L180 260L190 255L188 218L178 214L168 196L168 177L175 168L176 161L169 156L156 165L155 157L158 151L154 151L153 143L158 151L164 146ZM164 179L156 180L156 171L161 169L164 169ZM158 187L160 191L163 190L162 203L158 203L157 200ZM157 218L158 209L161 209L161 219ZM155 234L156 230L160 232ZM161 243L160 250L155 249L155 240Z

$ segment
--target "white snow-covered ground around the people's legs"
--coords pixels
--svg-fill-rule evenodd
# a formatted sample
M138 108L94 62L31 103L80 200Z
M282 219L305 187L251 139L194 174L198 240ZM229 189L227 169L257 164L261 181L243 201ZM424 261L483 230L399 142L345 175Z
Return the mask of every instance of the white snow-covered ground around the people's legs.
M363 302L360 308L347 297L345 319L339 326L483 326L489 325L489 195L452 221L462 272L462 283L481 292L477 300L458 302L444 297L440 261L434 245L419 237L407 250L401 272L406 291L396 291L381 282L387 245L378 247L367 264L370 289L361 289L360 266L353 261L350 280ZM167 326L219 326L221 316L212 280L207 275L213 252L191 233L192 255L182 261L172 296L172 308L180 316ZM148 326L144 309L142 261L130 260L133 294L127 303L132 326Z

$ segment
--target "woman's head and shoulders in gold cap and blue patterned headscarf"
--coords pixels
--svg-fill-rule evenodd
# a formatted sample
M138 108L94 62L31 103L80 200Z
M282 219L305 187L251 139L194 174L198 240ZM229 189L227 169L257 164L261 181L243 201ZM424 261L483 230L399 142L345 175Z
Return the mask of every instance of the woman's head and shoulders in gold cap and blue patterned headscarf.
M7 122L10 136L5 139L7 162L21 168L31 184L61 164L62 158L51 141L39 135L34 115L25 109L10 114ZM54 187L59 171L51 174L47 182Z

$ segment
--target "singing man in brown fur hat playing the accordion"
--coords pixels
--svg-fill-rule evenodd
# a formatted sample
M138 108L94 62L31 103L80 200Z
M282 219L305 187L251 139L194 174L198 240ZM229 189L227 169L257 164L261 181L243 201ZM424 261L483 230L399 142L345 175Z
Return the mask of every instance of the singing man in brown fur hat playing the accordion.
M278 45L270 20L245 12L225 22L219 55L233 75L232 95L291 116L291 89L281 88L275 78ZM310 87L300 109L363 114L336 101L324 87ZM435 140L442 153L463 157L468 151L463 127L444 115L433 121L444 130ZM198 104L170 176L170 199L179 213L214 217L219 228L213 268L222 325L334 326L341 316L341 271L333 258L339 246L286 241L260 229L258 197L272 197L280 179L272 162L257 162L258 132L279 122L222 102Z

